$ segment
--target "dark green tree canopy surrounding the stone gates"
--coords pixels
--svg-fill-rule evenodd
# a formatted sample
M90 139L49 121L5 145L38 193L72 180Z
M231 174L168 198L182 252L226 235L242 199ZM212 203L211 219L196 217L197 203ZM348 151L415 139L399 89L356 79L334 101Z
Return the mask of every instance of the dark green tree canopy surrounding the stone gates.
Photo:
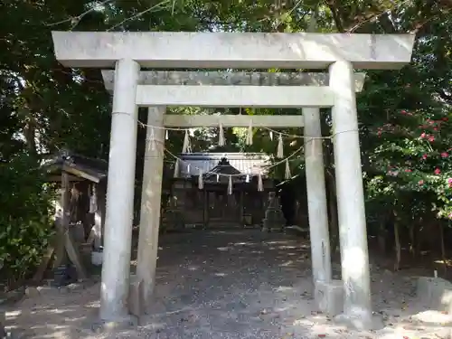
M401 71L367 71L358 96L367 212L370 219L397 219L407 228L419 229L431 221L447 224L452 219L451 9L450 0L1 2L0 183L2 196L14 200L0 211L0 259L12 258L5 252L11 252L11 237L17 235L9 225L34 236L31 225L46 215L42 178L30 170L42 155L67 147L108 158L111 104L100 71L62 67L52 51L52 30L292 33L312 29L315 23L317 32L416 33L410 65ZM243 113L256 114L250 108ZM259 114L294 110L261 109ZM323 124L325 136L330 135L328 114ZM265 131L255 131L253 146L245 146L240 131L227 133L231 149L272 152L275 147ZM177 152L184 135L174 136L169 147ZM195 150L205 150L211 138L205 131L196 132ZM288 142L287 150L300 146ZM329 174L334 174L332 152L331 143L325 142ZM302 173L302 158L292 166L293 174ZM34 184L9 180L32 174ZM334 186L334 175L328 177ZM13 213L13 202L17 211L27 212Z

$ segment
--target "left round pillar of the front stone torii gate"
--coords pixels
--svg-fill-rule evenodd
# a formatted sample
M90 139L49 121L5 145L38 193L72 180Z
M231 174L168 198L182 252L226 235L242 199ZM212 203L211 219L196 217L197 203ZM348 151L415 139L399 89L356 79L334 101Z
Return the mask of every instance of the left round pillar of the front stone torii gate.
M124 323L130 320L127 297L137 157L139 71L136 61L122 59L116 62L100 286L100 319L104 322Z

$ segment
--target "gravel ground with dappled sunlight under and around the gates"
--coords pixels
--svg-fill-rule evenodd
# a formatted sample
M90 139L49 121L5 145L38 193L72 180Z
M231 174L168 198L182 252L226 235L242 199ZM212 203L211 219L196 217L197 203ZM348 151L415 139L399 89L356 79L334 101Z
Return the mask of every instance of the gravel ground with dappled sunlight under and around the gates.
M305 240L260 231L193 231L161 237L154 310L145 326L93 333L99 308L94 282L42 288L6 317L15 333L40 339L451 338L449 327L416 320L441 315L419 314L425 309L415 302L409 275L372 266L374 310L386 327L353 333L315 312Z

